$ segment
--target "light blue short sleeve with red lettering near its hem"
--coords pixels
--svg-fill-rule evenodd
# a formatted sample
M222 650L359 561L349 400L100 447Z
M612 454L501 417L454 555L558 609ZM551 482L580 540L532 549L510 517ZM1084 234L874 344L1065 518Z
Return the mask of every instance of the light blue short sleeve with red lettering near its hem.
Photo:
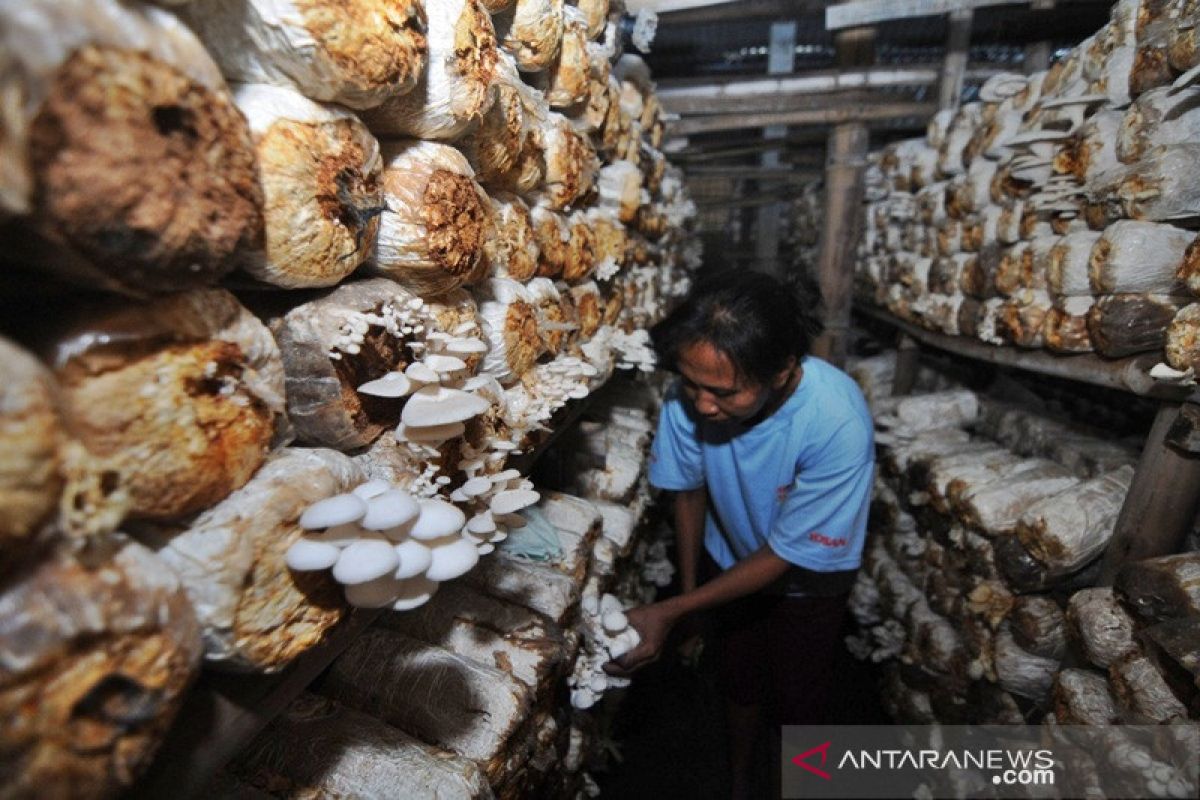
M802 464L767 536L782 559L817 572L862 563L875 469L871 429L846 422Z

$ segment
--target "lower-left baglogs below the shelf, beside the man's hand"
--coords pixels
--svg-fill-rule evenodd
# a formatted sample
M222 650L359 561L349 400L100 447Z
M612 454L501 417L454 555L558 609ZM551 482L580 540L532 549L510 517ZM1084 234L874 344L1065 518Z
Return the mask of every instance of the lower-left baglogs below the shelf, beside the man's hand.
M601 681L616 680L593 667L610 630L624 624L622 606L643 597L649 546L638 528L649 503L640 468L659 392L613 384L589 407L588 429L554 445L582 445L608 463L580 462L570 471L576 494L544 492L524 512L536 542L527 536L512 549L509 540L420 609L385 613L210 792L576 795L598 744L594 720L575 710L586 705L577 696L598 698ZM622 444L608 449L610 440ZM625 461L638 465L634 480L610 477L625 475Z

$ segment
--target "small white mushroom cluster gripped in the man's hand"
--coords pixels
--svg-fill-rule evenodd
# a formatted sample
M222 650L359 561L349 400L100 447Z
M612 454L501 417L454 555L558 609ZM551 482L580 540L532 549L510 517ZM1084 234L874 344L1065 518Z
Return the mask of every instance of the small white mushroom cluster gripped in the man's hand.
M604 664L636 648L642 638L630 626L616 595L601 595L589 585L580 609L583 644L566 682L571 687L571 705L582 710L595 705L607 690L629 685L628 678L607 674Z

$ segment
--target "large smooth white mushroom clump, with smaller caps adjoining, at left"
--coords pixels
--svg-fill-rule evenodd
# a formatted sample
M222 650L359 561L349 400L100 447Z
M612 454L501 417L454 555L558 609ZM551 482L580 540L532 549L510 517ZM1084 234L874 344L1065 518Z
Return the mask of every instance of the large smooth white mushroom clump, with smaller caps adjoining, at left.
M474 512L468 519L454 503L371 480L305 510L287 565L331 570L352 606L416 608L494 549L516 512L538 501L530 486L516 470L468 480L451 495Z

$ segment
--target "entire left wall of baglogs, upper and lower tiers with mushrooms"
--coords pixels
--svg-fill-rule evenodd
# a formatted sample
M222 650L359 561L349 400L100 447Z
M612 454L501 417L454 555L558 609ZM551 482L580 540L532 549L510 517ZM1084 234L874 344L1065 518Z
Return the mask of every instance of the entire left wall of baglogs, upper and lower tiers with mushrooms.
M214 790L583 784L697 266L622 11L0 0L6 796L169 772L188 698L334 645ZM607 461L535 486L571 426Z

